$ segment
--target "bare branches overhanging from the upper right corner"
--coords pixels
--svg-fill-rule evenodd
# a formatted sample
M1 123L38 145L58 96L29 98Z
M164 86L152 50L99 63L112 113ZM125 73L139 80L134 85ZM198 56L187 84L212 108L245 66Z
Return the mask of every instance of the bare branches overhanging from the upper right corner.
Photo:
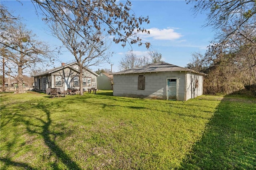
M256 2L254 0L202 0L194 2L194 12L206 12L206 26L216 30L216 35L209 46L212 59L228 57L236 53L236 57L226 60L242 64L244 69L250 69L254 80L256 70L255 44L256 44ZM239 55L240 52L246 55ZM239 52L240 51L240 52ZM239 52L239 53L238 53ZM244 64L247 60L247 64ZM223 61L223 60L222 60ZM251 63L251 64L248 64Z

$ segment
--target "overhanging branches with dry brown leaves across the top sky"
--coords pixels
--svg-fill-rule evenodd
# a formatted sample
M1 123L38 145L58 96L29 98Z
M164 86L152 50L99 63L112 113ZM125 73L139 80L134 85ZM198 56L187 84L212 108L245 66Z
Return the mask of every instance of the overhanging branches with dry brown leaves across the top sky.
M122 43L124 47L126 42L130 44L145 44L147 48L150 43L143 43L137 33L149 33L141 28L142 23L149 23L148 17L138 17L131 12L131 2L125 4L116 3L115 0L76 0L76 1L55 1L55 0L32 0L35 7L39 6L42 10L45 21L54 21L63 25L65 29L73 29L69 23L79 23L79 29L76 33L84 40L96 40L91 31L106 32L114 36L115 43ZM60 18L61 16L61 18ZM81 34L83 32L83 35ZM128 41L130 40L130 41Z

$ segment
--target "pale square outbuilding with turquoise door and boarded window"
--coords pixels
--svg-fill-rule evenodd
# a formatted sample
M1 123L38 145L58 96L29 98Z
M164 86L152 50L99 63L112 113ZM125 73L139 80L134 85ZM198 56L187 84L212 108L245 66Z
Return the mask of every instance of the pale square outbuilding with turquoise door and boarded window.
M169 63L113 73L114 96L186 101L203 94L206 74Z

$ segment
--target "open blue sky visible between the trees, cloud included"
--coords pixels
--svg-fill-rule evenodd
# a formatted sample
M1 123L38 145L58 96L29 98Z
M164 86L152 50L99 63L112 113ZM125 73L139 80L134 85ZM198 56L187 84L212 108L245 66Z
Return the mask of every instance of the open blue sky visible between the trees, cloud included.
M21 3L20 3L21 2ZM36 10L30 0L28 1L2 1L8 10L13 11L14 16L23 18L22 22L26 23L27 28L36 33L38 39L46 41L52 46L61 46L62 43L47 33L48 27L42 21L41 16L36 15ZM193 4L186 4L183 0L136 0L132 2L132 10L136 16L149 16L150 24L142 25L150 30L149 35L142 35L142 41L150 42L152 50L162 54L163 60L167 63L178 66L186 66L192 59L191 54L194 52L205 53L206 47L214 37L214 32L210 27L202 27L206 23L206 15L198 14L194 16L192 12ZM114 72L119 71L119 61L125 53L133 50L137 56L147 55L147 49L144 45L138 47L122 47L121 44L110 46L110 51L114 55L110 58ZM71 53L59 55L59 60L68 62L74 60ZM59 62L55 66L60 66ZM110 69L110 64L90 67L92 70L98 68Z

